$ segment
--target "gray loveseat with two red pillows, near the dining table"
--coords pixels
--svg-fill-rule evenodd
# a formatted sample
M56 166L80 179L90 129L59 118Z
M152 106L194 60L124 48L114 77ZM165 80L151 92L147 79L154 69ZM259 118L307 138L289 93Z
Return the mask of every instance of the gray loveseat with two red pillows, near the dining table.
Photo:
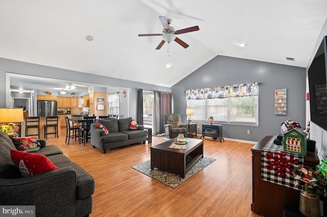
M105 126L109 133L105 134L97 124L91 124L91 144L103 150L105 154L107 149L117 148L135 143L146 143L148 131L144 126L138 125L135 130L130 130L129 125L132 118L123 119L99 119L98 123Z

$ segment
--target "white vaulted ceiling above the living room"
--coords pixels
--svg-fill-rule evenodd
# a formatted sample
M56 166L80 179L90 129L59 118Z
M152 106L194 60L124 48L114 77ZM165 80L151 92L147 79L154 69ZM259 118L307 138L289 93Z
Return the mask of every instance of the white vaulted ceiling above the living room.
M217 55L307 67L326 11L325 0L2 0L0 57L172 87ZM178 35L186 49L156 50L161 36L138 34L162 33L158 16L200 30Z

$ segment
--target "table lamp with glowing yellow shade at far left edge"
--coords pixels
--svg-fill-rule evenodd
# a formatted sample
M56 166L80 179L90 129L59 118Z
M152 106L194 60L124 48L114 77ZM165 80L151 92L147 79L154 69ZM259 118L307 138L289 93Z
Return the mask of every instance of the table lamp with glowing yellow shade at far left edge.
M9 125L9 130L6 132L9 137L16 137L12 128L15 122L24 122L22 108L0 108L0 123Z

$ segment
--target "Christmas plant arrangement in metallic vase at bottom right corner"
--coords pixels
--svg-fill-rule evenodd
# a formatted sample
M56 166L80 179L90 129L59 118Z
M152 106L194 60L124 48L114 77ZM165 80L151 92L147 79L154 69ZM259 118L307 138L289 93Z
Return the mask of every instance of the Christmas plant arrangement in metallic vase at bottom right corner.
M326 192L327 182L319 169L295 167L294 179L302 186L300 212L306 216L320 216L320 200Z

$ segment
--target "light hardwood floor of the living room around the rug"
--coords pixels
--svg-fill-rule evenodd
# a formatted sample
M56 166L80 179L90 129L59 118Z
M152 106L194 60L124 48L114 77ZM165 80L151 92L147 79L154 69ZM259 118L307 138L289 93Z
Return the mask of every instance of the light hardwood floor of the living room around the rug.
M95 179L90 216L259 216L251 211L253 144L204 140L204 155L215 158L211 165L173 189L131 166L150 159L152 144L136 144L107 150L93 148L90 141L65 144L65 129L59 139L46 144L58 146Z

